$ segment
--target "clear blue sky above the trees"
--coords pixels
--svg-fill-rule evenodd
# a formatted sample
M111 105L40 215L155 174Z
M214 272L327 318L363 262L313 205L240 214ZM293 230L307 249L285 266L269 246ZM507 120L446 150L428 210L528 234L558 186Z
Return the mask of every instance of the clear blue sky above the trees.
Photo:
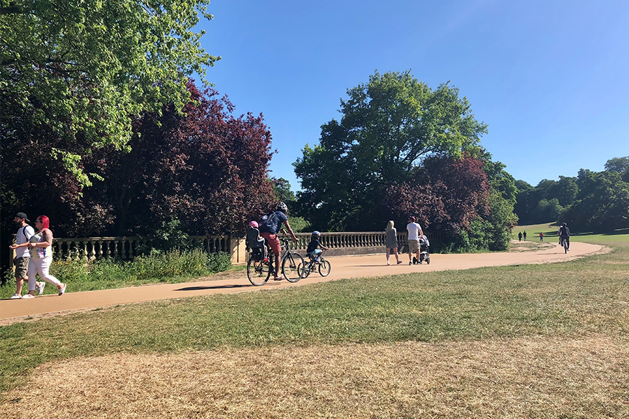
M208 81L237 115L264 115L271 175L295 191L291 163L376 69L450 80L489 125L493 159L534 186L629 156L629 1L213 0L208 11L202 45L222 56Z

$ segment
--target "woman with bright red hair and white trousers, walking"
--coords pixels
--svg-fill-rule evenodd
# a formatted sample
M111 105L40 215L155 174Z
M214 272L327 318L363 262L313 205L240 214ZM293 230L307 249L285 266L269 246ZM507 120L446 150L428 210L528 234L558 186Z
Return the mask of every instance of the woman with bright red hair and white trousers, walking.
M52 231L50 231L50 219L45 215L40 215L35 220L35 229L38 230L29 242L29 248L31 249L31 261L29 262L29 295L34 295L36 288L35 274L39 274L39 277L50 284L57 286L59 295L64 295L66 292L66 284L63 284L59 279L53 277L49 272L50 263L52 263ZM39 294L43 293L43 287L45 282L41 283L41 286L37 287ZM24 295L26 297L26 295ZM24 298L22 297L22 298Z

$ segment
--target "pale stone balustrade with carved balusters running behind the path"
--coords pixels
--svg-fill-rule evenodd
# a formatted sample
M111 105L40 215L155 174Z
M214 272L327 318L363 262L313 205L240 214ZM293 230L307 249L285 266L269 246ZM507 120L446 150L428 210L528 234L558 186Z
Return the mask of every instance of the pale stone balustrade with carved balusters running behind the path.
M440 240L439 235L426 233L428 240ZM288 237L282 235L282 237ZM291 248L305 252L310 242L310 233L297 233L297 243ZM321 244L329 247L329 256L384 253L384 231L321 233ZM406 247L407 233L398 233L398 251ZM189 236L198 241L208 253L224 251L231 254L231 263L247 263L245 239L231 235ZM15 235L14 235L15 240ZM101 260L120 258L131 260L151 249L150 240L141 237L78 237L57 238L52 240L52 253L57 260ZM14 251L11 251L10 263L13 265Z

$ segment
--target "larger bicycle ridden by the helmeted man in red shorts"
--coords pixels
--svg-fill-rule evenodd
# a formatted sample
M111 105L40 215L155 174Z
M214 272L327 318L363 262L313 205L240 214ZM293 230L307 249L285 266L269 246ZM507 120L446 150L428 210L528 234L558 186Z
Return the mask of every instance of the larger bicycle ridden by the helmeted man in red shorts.
M301 279L301 272L298 270L299 265L305 263L303 256L297 251L291 250L290 241L282 240L282 249L285 249L280 265L282 266L282 274L289 282L297 282ZM270 278L271 274L275 274L273 266L275 256L273 252L268 252L266 260L255 256L253 253L247 262L247 278L255 286L263 286Z

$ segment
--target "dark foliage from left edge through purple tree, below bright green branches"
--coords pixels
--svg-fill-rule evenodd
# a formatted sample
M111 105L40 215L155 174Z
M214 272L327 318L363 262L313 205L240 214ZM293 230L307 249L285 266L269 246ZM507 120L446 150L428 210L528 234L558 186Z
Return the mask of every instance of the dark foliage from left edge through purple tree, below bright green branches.
M270 132L261 115L231 115L233 105L217 91L201 93L191 82L188 89L194 102L185 115L168 106L161 117L136 119L130 152L107 146L83 156L82 167L103 178L94 187L82 188L40 142L52 142L53 133L28 126L27 140L3 141L3 210L50 216L56 237L136 234L164 249L187 247L183 232L244 232L274 200L266 181ZM2 222L9 240L17 228Z

